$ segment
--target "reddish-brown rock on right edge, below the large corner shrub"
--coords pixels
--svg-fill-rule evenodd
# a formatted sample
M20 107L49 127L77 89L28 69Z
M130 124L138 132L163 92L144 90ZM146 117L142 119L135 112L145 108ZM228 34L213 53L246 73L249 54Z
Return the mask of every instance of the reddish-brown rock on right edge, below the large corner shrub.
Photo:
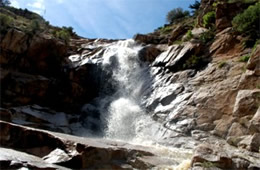
M253 70L255 75L260 76L260 45L256 46L253 54L251 55L248 63L247 69Z

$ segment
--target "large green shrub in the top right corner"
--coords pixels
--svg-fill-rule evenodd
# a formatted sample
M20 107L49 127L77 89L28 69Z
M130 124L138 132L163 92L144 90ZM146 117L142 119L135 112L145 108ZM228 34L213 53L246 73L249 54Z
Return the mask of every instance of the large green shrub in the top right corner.
M254 39L260 37L260 2L249 6L244 12L235 16L232 25L235 30L240 33L250 35Z

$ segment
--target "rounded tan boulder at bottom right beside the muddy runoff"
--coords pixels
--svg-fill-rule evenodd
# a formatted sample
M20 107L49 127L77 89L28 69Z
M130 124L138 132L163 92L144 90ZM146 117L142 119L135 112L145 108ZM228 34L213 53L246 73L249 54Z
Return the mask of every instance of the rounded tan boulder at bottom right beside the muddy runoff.
M229 157L228 153L219 147L208 144L201 144L196 147L192 157L192 167L196 167L196 165L202 166L203 163L208 163L211 165L211 168L232 168L232 159Z

